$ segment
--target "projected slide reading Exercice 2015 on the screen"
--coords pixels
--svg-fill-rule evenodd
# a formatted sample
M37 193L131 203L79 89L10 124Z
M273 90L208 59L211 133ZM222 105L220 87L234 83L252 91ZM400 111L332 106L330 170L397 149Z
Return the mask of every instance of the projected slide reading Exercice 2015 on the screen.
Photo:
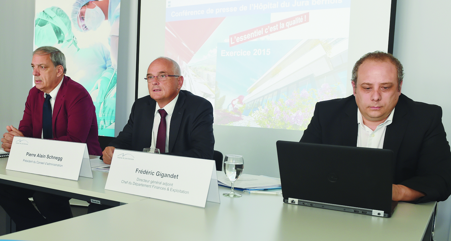
M307 128L345 97L350 0L167 1L165 55L216 125Z

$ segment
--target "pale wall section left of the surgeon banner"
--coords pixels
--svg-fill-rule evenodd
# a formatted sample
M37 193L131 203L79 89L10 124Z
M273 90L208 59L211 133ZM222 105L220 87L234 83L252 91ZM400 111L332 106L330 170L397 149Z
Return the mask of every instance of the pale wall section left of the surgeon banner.
M0 35L0 134L3 135L6 125L18 127L32 85L34 0L10 1L8 10L0 15L3 26Z

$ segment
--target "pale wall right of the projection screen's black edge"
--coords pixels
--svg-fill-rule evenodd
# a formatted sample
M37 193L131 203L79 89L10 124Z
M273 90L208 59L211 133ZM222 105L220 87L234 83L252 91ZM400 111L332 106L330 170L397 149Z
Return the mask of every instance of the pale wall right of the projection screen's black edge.
M415 101L442 107L442 122L451 134L451 2L398 0L393 55L405 71L401 92ZM449 240L451 201L438 204L435 241Z

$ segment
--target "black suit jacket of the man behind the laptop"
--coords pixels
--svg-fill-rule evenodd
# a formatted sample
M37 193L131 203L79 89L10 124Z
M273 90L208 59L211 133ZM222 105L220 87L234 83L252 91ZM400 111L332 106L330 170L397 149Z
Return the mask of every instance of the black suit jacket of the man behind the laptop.
M300 142L357 146L354 95L316 104ZM401 94L384 149L394 152L394 184L424 192L416 202L445 201L451 193L451 152L442 124L442 108Z

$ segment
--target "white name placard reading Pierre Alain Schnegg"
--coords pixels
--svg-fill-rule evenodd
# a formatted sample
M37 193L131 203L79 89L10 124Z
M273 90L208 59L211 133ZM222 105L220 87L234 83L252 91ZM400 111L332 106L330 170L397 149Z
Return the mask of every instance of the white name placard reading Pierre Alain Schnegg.
M6 170L56 178L92 178L86 143L15 136Z

